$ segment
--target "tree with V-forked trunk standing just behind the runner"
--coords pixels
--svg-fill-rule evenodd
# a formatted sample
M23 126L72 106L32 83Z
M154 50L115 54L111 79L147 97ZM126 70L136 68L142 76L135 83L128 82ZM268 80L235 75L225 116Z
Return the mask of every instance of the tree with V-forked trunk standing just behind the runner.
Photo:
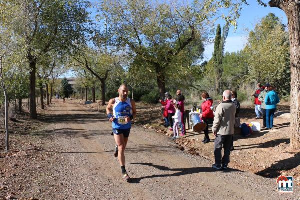
M92 33L86 35L85 43L78 45L74 52L75 65L81 65L86 68L92 76L100 81L101 87L101 105L105 105L106 81L111 71L121 65L123 55L119 53L121 49L114 39L114 32L108 27L108 18L104 13L97 14L98 23ZM102 29L104 23L104 30ZM100 26L98 28L98 26ZM77 62L77 63L76 63ZM93 102L95 102L95 83L92 83Z

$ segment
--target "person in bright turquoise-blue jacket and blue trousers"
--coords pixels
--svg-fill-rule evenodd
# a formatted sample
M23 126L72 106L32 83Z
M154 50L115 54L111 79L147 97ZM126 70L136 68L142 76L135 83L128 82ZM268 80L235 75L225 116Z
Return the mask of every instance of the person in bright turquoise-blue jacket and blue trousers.
M269 87L269 92L266 94L265 99L265 123L266 129L273 129L274 113L276 111L276 104L280 102L278 94L274 91L272 86Z

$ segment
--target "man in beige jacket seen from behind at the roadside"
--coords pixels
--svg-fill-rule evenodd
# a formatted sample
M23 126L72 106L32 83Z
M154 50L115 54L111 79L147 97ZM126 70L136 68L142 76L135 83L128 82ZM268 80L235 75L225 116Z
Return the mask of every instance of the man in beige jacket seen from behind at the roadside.
M223 92L223 101L215 110L212 132L214 140L214 160L212 168L227 169L230 162L230 145L234 133L234 121L236 106L231 101L231 91ZM224 146L224 156L222 158L222 145Z

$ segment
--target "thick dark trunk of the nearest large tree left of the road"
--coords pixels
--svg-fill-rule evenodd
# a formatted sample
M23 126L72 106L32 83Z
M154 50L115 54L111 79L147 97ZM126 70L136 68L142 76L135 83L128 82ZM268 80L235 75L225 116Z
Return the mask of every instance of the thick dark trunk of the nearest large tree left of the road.
M36 59L32 58L32 56L28 55L29 59L29 95L30 95L30 117L33 119L37 119L36 112L36 99L35 99L35 85L36 85Z

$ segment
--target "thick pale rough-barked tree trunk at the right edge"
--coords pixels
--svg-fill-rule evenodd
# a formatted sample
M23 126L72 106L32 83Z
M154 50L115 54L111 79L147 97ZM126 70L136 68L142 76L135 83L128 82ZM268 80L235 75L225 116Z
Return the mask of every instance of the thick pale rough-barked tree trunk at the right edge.
M290 114L292 149L300 149L300 5L289 3L285 11L288 18L290 42Z

